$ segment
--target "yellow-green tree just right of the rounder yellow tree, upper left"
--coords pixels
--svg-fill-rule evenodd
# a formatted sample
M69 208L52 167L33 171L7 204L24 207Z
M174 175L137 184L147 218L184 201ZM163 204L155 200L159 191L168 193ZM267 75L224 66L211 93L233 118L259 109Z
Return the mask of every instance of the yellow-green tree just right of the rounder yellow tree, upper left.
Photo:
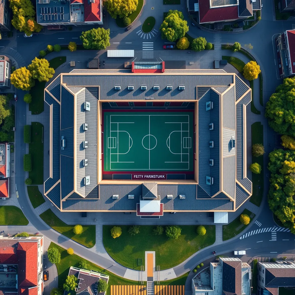
M55 73L54 68L50 68L49 62L45 58L34 58L32 63L28 65L32 78L38 79L39 82L48 82Z

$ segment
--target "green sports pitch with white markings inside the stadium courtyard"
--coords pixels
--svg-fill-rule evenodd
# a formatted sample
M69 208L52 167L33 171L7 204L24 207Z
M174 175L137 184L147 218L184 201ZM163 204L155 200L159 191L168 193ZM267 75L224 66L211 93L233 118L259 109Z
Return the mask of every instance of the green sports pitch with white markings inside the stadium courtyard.
M104 171L193 171L193 112L104 112Z

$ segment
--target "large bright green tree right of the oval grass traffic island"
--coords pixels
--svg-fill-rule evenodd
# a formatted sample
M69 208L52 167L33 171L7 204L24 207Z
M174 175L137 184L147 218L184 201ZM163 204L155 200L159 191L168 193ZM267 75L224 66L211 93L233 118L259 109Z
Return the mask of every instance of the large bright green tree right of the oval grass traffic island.
M175 42L184 37L189 31L187 21L184 20L182 12L178 10L169 10L163 23L160 26L162 39Z

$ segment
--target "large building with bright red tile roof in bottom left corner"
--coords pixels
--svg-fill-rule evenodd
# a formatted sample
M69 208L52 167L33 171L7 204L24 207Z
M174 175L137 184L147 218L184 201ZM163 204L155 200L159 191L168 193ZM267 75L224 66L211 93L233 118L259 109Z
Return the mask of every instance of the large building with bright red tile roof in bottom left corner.
M43 237L0 236L0 293L43 294Z

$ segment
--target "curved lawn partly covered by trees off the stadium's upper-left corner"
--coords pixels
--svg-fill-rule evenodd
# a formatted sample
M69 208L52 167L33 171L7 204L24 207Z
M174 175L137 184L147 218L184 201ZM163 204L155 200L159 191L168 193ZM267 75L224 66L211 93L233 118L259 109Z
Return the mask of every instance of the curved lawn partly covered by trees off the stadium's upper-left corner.
M59 56L49 60L50 67L57 69L60 65L62 65L66 61L65 56ZM44 111L44 88L45 81L39 82L35 80L35 86L30 90L30 94L32 95L32 102L29 104L29 111L32 114L40 114Z

